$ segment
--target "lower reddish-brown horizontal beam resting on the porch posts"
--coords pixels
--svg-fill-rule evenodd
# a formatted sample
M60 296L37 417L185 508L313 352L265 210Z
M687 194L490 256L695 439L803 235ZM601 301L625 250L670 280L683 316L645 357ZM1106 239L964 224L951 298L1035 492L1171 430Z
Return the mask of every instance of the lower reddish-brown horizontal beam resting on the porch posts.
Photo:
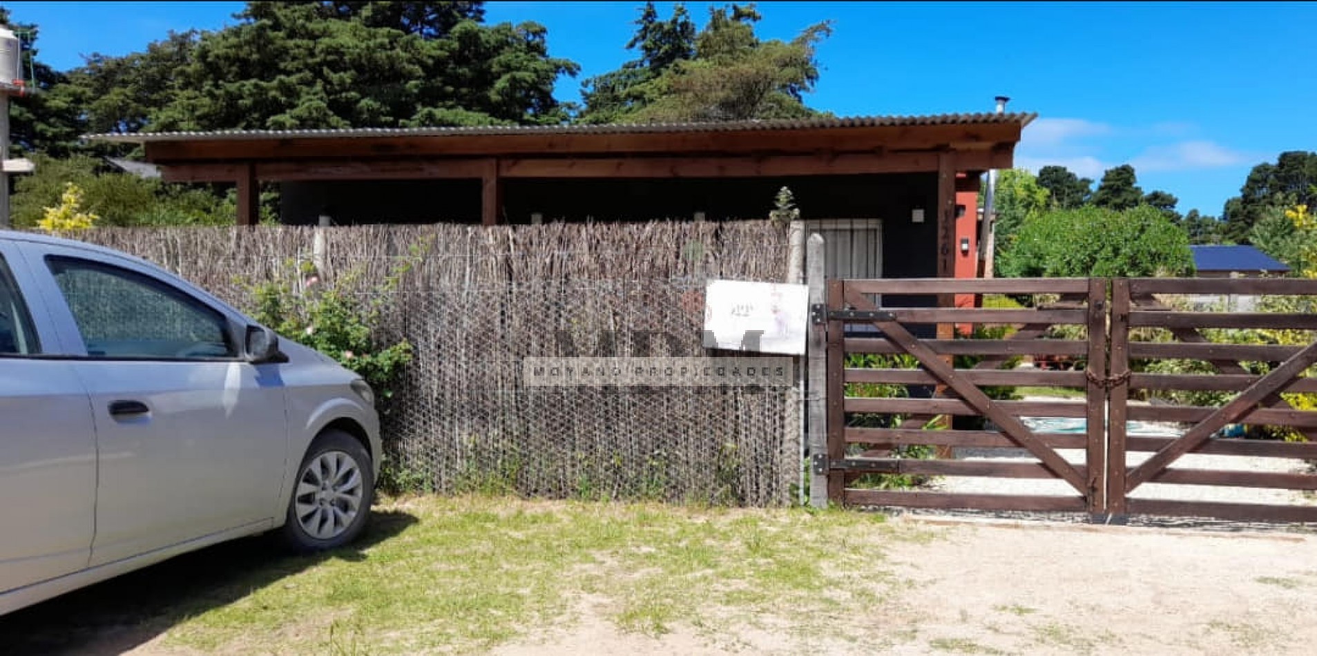
M809 154L765 157L519 157L499 158L498 177L516 178L757 178L793 175L861 175L934 173L935 151L884 151L881 154ZM485 179L494 158L375 158L255 162L255 175L269 182L385 180L385 179ZM1009 148L956 153L961 169L1008 169ZM162 165L166 182L233 182L245 163L188 162Z

